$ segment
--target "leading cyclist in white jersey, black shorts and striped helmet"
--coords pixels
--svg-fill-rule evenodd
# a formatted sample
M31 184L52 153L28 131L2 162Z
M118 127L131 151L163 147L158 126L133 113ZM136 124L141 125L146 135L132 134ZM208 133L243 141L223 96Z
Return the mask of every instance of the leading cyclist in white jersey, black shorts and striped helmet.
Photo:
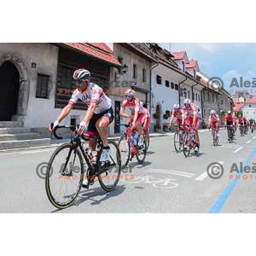
M76 70L73 74L76 82L76 90L70 98L68 104L62 109L58 119L54 122L54 130L56 126L69 114L73 106L78 102L84 102L88 109L77 130L78 134L86 131L97 131L102 139L103 151L100 162L106 163L110 160L108 146L108 125L113 121L113 109L111 107L111 99L105 95L102 88L97 84L90 83L90 72L85 69ZM90 139L89 146L95 152L96 142Z

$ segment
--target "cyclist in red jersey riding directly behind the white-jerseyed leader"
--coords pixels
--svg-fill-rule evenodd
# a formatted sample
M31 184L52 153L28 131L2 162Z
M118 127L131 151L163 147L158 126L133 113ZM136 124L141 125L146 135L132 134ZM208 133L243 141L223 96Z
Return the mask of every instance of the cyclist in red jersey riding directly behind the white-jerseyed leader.
M131 128L137 130L139 134L143 134L144 111L142 102L135 97L133 89L126 90L125 97L126 99L122 102L120 116L130 118ZM130 109L131 115L125 113L126 108Z

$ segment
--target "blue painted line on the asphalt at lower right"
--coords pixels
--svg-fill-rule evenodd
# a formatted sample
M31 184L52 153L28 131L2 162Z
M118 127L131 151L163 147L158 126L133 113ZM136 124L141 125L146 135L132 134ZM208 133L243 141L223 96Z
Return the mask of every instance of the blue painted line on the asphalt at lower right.
M245 165L249 165L251 159L256 154L256 148L254 148L249 156L245 160ZM244 172L240 173L242 175ZM212 206L212 208L209 210L208 213L219 213L221 209L223 208L225 202L227 201L227 198L230 196L230 194L233 192L236 184L238 183L239 179L233 178L230 183L227 185L227 187L224 189L224 191L221 193L221 195L218 197L218 200L215 202L215 204Z

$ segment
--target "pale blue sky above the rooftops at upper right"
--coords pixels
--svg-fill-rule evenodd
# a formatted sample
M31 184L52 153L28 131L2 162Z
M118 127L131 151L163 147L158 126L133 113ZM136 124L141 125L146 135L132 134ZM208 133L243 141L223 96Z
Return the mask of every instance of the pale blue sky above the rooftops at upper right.
M233 77L240 82L256 78L256 43L159 43L166 49L186 50L209 77L218 76L230 90ZM236 90L236 87L232 89ZM239 89L239 88L238 88ZM251 88L252 89L252 88ZM255 89L255 88L254 88Z

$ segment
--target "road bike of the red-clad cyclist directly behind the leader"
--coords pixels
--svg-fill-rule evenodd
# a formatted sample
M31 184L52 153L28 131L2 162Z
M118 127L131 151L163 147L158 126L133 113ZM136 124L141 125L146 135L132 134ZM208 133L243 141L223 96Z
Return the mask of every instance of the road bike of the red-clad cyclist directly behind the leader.
M127 166L134 156L136 156L138 163L143 164L147 153L145 133L140 135L137 131L133 131L130 125L125 124L123 126L125 127L124 133L118 142L122 166ZM135 143L134 137L136 138Z

